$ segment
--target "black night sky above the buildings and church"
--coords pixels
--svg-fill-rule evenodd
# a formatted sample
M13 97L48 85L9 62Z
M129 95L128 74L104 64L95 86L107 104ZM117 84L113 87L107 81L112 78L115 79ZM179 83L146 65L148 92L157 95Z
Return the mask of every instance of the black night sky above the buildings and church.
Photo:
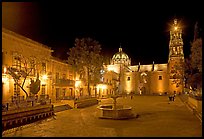
M103 2L103 3L102 3ZM2 26L51 47L66 59L76 37L92 37L111 58L121 46L132 65L167 63L169 29L182 24L184 54L188 57L201 2L75 1L2 3Z

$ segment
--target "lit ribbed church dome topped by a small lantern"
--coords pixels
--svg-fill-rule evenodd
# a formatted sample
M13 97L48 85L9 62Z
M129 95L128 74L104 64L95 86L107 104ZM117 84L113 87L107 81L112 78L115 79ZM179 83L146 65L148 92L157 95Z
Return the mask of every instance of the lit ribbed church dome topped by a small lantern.
M128 55L122 51L122 48L119 48L119 52L113 55L112 64L130 65L130 59Z

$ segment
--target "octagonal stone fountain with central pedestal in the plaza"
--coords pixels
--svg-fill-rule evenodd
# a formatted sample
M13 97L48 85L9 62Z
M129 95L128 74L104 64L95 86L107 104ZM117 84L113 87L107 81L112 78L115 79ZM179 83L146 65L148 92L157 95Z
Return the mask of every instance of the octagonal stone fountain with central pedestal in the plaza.
M119 95L113 95L113 104L100 105L97 108L100 111L99 118L104 119L129 119L135 118L136 115L132 112L132 107L117 105L116 99Z

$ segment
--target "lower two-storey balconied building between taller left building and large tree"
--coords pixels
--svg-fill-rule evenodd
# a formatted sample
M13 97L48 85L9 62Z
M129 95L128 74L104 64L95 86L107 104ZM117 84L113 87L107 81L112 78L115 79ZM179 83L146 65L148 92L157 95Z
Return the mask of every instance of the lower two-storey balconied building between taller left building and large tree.
M75 97L74 71L70 65L56 57L51 58L52 100L72 99Z

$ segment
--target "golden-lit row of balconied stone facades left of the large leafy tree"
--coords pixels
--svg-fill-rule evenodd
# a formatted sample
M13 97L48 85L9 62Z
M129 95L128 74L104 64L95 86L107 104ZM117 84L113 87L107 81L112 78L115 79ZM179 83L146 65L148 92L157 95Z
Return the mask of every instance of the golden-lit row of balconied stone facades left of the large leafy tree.
M22 88L8 73L9 67L17 69L19 73L25 71L28 74L26 78L21 77L18 82L29 96L31 79L35 81L39 74L41 84L38 96L48 96L52 102L74 97L73 70L62 60L52 57L52 52L53 50L46 45L2 28L3 103L26 98Z

